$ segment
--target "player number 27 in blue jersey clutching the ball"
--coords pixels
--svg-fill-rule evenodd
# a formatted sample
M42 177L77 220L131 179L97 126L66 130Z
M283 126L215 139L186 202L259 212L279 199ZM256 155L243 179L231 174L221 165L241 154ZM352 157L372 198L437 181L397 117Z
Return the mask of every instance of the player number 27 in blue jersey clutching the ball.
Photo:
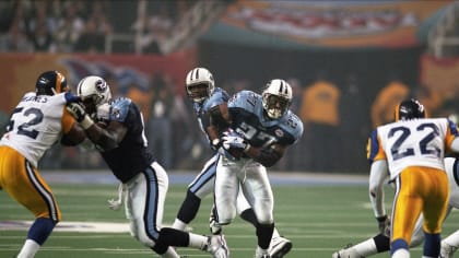
M274 165L303 134L303 122L289 109L291 104L292 87L274 79L261 95L240 91L215 109L220 113L215 117L229 125L220 138L224 152L216 166L215 218L220 225L232 223L242 190L257 219L256 258L270 257L274 231L273 194L266 167Z

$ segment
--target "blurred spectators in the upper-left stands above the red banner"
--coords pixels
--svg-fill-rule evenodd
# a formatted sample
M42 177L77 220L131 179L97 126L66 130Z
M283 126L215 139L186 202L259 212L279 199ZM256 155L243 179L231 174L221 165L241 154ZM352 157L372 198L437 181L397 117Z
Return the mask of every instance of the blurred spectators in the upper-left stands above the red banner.
M168 37L195 2L3 0L0 52L104 52L107 37L115 32L128 35L120 50L134 51L134 44L140 44L142 52L158 52L157 43ZM134 36L139 36L137 43Z

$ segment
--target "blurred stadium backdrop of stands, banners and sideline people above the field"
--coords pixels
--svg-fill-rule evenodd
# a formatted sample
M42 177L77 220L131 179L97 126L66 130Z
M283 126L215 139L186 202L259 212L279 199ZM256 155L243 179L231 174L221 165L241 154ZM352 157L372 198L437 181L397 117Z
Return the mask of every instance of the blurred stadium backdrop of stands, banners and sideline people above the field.
M73 90L82 77L98 74L117 95L142 107L152 151L167 169L200 169L211 153L184 80L189 69L203 66L232 93L260 92L273 78L294 86L292 109L305 132L273 169L365 174L366 137L391 119L393 99L419 97L431 116L459 114L458 5L2 1L1 128L24 92L34 90L39 72L63 71ZM105 168L91 148L59 145L40 166Z

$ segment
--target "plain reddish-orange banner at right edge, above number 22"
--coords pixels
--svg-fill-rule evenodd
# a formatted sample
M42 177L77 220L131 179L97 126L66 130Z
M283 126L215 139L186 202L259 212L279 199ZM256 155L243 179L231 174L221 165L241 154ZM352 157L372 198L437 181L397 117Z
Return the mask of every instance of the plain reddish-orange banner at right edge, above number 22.
M420 82L436 92L442 101L459 97L459 58L421 57Z

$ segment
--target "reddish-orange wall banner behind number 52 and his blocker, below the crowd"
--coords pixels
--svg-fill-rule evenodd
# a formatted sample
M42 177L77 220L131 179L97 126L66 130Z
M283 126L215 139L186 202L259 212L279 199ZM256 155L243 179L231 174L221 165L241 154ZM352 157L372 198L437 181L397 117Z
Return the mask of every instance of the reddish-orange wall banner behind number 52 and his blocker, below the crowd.
M113 82L113 91L128 94L140 91L139 102L149 102L150 79L155 73L170 77L175 92L184 94L184 81L196 63L196 50L156 55L99 55L99 54L1 54L0 55L0 110L10 113L26 92L35 91L37 77L47 70L59 70L67 77L72 91L78 82L90 74ZM145 98L145 99L142 99Z

